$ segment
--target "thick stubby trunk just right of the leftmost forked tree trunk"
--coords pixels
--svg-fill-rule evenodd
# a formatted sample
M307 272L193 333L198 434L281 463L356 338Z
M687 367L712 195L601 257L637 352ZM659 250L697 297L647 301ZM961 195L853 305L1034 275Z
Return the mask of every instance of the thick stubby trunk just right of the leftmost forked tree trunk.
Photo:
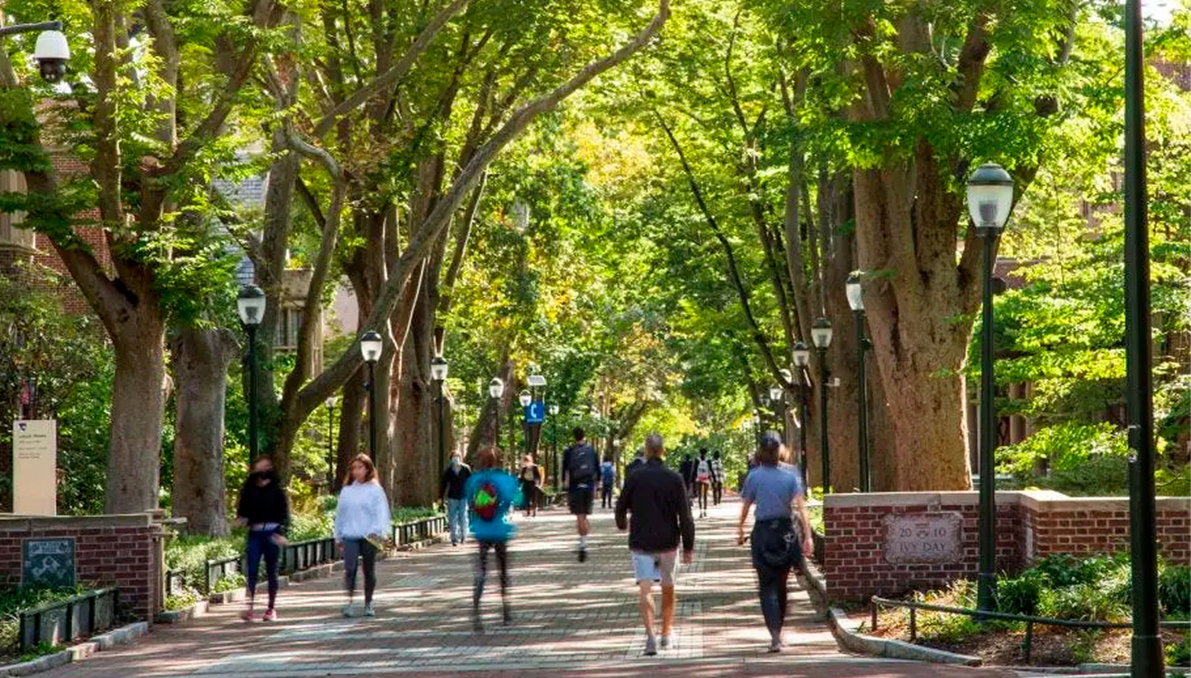
M224 536L224 400L236 343L226 331L182 329L172 345L176 377L174 515L193 534Z

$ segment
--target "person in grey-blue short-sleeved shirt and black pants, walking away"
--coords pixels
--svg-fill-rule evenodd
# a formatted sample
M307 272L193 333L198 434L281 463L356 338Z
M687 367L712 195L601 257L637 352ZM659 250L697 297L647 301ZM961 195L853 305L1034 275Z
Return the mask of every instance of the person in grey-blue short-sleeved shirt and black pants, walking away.
M757 466L744 479L741 496L737 544L744 544L744 522L756 506L753 521L753 567L756 570L761 613L769 629L769 652L781 652L781 627L786 619L790 570L802 563L803 553L813 551L805 488L798 470L780 462L781 438L769 431L761 437ZM796 531L794 521L800 523ZM800 535L798 533L802 533Z

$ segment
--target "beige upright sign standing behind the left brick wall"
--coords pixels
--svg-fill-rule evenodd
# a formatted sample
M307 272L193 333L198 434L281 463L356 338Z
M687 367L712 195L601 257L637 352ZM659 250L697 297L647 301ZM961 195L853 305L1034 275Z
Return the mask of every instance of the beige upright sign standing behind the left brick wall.
M12 511L57 515L57 422L32 419L12 422Z

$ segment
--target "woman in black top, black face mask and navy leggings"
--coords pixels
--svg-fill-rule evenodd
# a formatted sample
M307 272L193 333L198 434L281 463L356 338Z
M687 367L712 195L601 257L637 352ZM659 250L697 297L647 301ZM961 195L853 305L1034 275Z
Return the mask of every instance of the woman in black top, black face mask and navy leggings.
M278 619L278 564L281 559L281 546L289 528L289 501L286 491L273 470L273 460L257 457L244 485L239 490L239 503L236 517L241 525L248 526L248 540L244 551L248 557L248 609L241 615L244 621L255 621L252 605L256 601L256 578L261 571L261 558L264 558L264 576L269 583L269 607L264 610L264 621Z

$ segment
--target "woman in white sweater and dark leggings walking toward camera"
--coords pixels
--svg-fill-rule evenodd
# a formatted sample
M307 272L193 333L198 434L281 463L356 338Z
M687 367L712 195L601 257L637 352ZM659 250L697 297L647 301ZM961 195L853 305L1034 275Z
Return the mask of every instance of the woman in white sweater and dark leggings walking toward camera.
M364 616L375 616L372 595L376 589L376 551L389 527L388 497L376 482L376 466L367 454L358 454L348 465L348 477L339 490L335 510L335 542L343 548L343 579L348 604L343 616L355 615L351 598L356 592L356 561L364 567Z

